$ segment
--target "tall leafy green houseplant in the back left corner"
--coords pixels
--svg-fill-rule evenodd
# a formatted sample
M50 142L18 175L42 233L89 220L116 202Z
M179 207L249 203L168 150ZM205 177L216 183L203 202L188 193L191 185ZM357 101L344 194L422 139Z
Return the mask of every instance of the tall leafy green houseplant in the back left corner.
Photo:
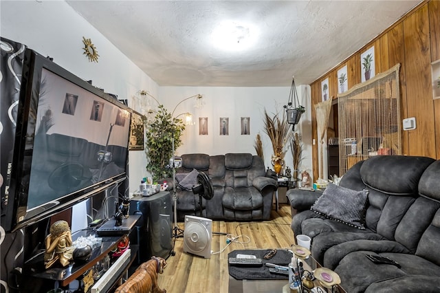
M173 118L164 105L159 105L153 122L145 122L145 127L145 152L148 158L146 170L151 173L153 180L171 177L173 171L166 166L173 156L173 138L174 149L181 146L181 134L185 130L184 121Z

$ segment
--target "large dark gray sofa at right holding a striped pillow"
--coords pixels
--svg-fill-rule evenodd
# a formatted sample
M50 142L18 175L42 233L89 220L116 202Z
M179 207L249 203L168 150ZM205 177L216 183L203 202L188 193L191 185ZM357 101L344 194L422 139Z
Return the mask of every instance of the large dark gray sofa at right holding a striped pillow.
M349 169L340 186L367 191L364 229L311 210L322 192L287 192L292 230L312 238L312 257L337 272L350 293L440 292L440 160L371 157ZM375 264L366 254L401 267Z

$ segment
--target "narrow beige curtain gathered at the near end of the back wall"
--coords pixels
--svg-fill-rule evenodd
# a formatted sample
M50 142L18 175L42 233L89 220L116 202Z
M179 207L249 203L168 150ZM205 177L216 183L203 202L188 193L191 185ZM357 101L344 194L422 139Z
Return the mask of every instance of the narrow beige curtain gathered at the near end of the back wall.
M327 145L325 141L325 135L327 134L327 126L329 125L329 116L331 111L331 102L333 102L332 98L324 102L319 102L314 105L316 112L316 124L318 131L318 148L320 152L319 158L319 177L321 179L327 179L327 175L324 177L324 144Z

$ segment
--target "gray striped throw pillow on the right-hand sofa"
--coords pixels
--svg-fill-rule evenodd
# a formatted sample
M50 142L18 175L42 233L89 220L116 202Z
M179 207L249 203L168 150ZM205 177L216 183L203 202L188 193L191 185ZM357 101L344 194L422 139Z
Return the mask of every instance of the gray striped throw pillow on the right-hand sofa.
M311 210L329 219L365 229L365 209L369 191L353 191L332 183L316 199Z

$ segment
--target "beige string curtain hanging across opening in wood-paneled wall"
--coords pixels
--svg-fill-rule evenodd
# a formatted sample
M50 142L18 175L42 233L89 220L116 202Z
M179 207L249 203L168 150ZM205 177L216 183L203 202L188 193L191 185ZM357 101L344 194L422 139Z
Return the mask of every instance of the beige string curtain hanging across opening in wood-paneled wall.
M399 68L338 95L340 175L373 155L401 155Z

